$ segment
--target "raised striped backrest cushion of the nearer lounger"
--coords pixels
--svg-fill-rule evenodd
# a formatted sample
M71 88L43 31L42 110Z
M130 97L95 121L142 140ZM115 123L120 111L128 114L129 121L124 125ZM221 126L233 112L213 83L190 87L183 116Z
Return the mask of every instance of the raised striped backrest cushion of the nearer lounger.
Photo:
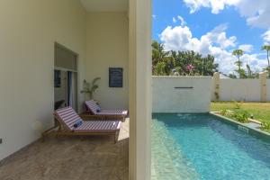
M64 124L66 124L68 130L74 130L73 125L76 123L77 120L82 121L82 119L72 109L72 107L58 109L54 112L54 114L58 117L59 121L62 121Z

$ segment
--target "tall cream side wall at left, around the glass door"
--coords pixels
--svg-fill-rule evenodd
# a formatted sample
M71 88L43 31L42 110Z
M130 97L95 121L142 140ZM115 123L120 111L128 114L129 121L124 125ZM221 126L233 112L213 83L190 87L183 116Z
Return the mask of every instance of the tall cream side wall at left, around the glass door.
M0 159L52 124L55 41L79 54L82 82L85 20L76 0L0 1Z

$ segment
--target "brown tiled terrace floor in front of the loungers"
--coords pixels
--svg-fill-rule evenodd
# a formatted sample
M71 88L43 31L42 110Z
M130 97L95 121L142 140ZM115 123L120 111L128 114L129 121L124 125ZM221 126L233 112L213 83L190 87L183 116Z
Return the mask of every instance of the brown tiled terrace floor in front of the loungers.
M0 166L1 180L127 180L129 121L112 137L38 141Z

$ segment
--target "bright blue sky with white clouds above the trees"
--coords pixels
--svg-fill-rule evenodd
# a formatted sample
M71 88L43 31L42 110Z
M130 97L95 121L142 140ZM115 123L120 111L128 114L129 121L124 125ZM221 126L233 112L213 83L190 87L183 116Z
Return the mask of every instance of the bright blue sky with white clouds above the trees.
M167 50L193 49L211 54L226 74L236 69L231 51L243 49L244 64L260 71L267 66L261 46L270 42L270 21L266 20L270 17L270 1L256 2L153 0L152 38L164 43Z

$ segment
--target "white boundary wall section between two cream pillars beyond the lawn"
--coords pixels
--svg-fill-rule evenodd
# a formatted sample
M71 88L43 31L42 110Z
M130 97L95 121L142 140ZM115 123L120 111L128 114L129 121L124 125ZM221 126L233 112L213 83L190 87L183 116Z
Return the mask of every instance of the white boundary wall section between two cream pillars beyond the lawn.
M261 101L260 79L220 79L220 101Z

